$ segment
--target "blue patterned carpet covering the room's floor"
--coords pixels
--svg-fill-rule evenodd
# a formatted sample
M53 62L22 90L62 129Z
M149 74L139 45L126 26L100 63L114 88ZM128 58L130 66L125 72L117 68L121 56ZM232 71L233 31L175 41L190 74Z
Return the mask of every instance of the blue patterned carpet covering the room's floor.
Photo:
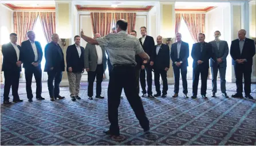
M208 80L208 97L210 83ZM103 96L107 96L107 85L103 82ZM191 96L191 80L188 85ZM124 97L119 106L121 136L116 137L102 132L109 126L107 99L88 100L86 82L81 85L80 101L70 100L68 87L61 88L64 100L50 101L44 82L46 100L31 103L25 83L21 83L19 95L24 102L2 105L1 90L1 145L256 145L255 100L223 98L219 91L218 97L209 100L172 98L174 85L168 88L166 98L142 98L151 124L149 134L143 133ZM256 97L256 84L251 89ZM227 93L234 92L235 84L227 83Z

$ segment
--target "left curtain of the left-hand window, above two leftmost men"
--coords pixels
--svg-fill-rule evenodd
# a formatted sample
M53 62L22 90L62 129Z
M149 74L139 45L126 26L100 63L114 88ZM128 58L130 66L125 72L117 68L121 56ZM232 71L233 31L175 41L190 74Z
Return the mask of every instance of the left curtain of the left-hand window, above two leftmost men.
M27 40L27 31L34 29L37 15L37 12L13 12L14 32L18 35L18 45L21 45L21 42Z

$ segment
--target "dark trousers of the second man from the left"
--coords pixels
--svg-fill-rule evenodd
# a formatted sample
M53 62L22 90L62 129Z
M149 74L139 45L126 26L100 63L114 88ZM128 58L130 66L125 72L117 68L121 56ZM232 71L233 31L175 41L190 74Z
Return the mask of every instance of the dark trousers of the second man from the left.
M30 68L25 68L25 78L26 78L26 92L27 98L33 98L31 84L32 84L32 77L36 79L36 97L41 97L42 93L42 69L41 66L31 66Z

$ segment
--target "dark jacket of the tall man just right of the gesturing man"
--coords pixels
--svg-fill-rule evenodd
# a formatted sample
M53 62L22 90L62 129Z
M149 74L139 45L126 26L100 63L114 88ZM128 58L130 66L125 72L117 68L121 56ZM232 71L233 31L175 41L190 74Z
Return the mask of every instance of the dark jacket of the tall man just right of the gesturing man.
M148 56L150 57L150 61L153 61L153 50L155 50L155 41L153 39L153 37L149 36L149 35L146 35L146 38L145 38L145 41L144 41L144 44L142 44L141 42L141 38L139 38L139 41L140 41L140 44L144 50L145 53L148 54ZM141 59L142 61L142 59Z

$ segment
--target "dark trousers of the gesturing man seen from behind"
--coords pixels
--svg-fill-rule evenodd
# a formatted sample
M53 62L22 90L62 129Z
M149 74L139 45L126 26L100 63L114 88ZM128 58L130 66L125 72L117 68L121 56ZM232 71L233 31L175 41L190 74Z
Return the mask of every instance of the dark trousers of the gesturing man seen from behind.
M136 84L135 67L113 67L108 84L108 119L111 123L109 129L112 133L119 133L118 107L123 88L125 96L135 112L141 127L144 130L149 130L149 121L145 115L141 98L136 92Z

